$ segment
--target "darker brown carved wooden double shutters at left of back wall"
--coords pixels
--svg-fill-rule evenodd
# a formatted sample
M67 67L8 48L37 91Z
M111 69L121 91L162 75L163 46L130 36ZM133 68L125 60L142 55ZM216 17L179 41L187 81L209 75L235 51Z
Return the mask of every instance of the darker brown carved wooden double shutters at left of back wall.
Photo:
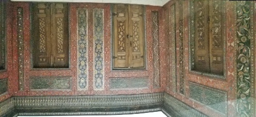
M68 67L68 4L33 4L34 67Z

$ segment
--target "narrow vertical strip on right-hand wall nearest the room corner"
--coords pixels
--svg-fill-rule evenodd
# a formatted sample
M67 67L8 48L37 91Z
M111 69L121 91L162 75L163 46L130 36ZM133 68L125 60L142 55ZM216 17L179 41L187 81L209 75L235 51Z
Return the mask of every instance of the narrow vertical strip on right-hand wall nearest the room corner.
M172 77L172 91L177 92L177 52L176 52L176 10L175 4L171 6L170 12L170 56L171 69L170 77Z

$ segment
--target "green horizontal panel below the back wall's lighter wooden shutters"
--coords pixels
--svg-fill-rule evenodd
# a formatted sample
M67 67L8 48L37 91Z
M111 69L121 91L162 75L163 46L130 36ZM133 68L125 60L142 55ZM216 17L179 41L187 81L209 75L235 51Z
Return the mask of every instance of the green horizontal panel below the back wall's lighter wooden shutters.
M127 89L127 88L148 88L148 77L143 78L110 78L110 89Z

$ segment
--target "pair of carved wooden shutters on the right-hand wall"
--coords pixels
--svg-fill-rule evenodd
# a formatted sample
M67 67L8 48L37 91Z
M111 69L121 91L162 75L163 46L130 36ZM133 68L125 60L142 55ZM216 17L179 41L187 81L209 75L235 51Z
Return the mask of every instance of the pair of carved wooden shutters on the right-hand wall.
M224 2L195 1L193 4L195 8L195 66L192 65L192 68L202 72L223 74L224 36L221 29L223 29Z

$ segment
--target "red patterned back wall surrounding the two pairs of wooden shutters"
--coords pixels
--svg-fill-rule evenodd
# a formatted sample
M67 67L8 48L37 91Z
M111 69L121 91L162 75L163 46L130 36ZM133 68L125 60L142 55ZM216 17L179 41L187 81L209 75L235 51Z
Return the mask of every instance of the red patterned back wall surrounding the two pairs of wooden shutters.
M111 4L69 3L69 68L40 69L31 67L31 38L29 2L9 2L7 13L8 71L1 79L10 78L9 93L0 101L13 96L36 95L108 95L163 92L164 82L159 72L164 65L162 7L145 6L146 69L112 69ZM152 16L157 12L157 16ZM155 19L156 18L156 19ZM152 20L156 20L152 27ZM152 30L157 36L152 39ZM153 41L158 41L159 64L153 64ZM156 75L154 75L154 73ZM10 76L9 76L10 74ZM158 75L158 76L157 76ZM131 82L136 81L134 85ZM127 87L119 87L123 83ZM143 84L142 86L139 86Z

